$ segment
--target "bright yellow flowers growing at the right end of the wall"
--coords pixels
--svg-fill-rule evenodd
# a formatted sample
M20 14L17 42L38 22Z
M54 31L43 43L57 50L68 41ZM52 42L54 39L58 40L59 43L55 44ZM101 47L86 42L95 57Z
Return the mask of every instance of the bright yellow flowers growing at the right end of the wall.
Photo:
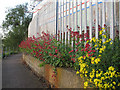
M120 77L120 73L115 71L115 68L113 66L110 66L106 71L102 71L101 69L97 70L91 67L91 65L97 65L101 61L101 53L106 49L105 44L111 42L111 39L106 39L107 36L103 35L103 32L104 30L101 30L99 32L99 35L102 35L103 39L105 39L104 42L102 42L102 39L95 39L95 37L93 37L90 42L88 41L88 43L95 43L94 48L98 50L98 56L89 57L86 53L86 55L80 56L78 58L80 70L77 71L76 74L87 78L86 82L84 82L84 88L87 88L89 86L89 83L92 83L99 88L115 89L116 85L120 86L120 83L116 83L113 79L114 77ZM90 63L86 62L86 59L90 60Z

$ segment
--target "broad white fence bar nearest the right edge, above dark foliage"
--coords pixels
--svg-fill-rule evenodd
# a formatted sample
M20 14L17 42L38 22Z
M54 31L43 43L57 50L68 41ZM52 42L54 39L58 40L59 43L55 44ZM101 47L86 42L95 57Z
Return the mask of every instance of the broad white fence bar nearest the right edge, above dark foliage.
M110 38L114 39L114 1L111 0L111 28L110 28Z

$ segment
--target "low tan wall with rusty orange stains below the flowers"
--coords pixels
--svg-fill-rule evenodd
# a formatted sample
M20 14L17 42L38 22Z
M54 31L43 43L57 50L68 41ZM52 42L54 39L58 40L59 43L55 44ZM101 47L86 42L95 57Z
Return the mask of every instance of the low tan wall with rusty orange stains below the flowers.
M43 67L38 59L30 55L23 54L23 61L40 77L44 77L51 85L56 88L83 88L84 81L76 72L68 68L57 68L57 76L53 77L53 66L46 64Z

